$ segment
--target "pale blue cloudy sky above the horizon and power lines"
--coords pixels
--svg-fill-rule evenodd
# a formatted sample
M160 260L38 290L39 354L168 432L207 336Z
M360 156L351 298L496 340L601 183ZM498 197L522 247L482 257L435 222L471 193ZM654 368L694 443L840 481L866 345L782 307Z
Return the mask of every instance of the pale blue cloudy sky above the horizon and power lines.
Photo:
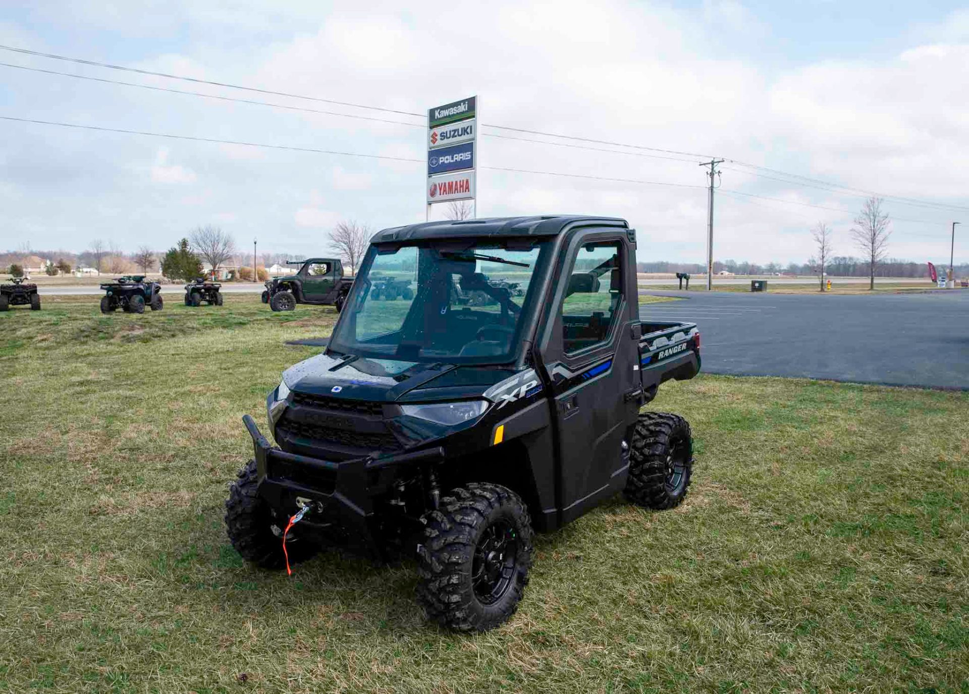
M969 10L954 3L400 8L7 0L0 45L388 110L0 49L0 116L387 159L0 120L0 249L21 238L74 251L93 238L163 248L217 224L240 246L258 237L261 250L305 255L342 219L420 222L425 129L408 114L476 94L484 124L635 145L485 127L479 216L624 217L641 259L703 261L698 162L716 156L728 160L719 259L803 262L819 221L833 226L837 254L856 253L851 219L864 192L877 192L893 218L891 256L948 258L961 217L955 256L969 261Z

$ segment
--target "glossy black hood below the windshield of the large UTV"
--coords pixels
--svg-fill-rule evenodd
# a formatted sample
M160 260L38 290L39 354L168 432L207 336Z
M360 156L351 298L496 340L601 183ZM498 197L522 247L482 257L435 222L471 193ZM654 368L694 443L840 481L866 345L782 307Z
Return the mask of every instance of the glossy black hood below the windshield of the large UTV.
M514 375L494 367L319 354L287 369L283 380L299 393L393 403L480 397Z

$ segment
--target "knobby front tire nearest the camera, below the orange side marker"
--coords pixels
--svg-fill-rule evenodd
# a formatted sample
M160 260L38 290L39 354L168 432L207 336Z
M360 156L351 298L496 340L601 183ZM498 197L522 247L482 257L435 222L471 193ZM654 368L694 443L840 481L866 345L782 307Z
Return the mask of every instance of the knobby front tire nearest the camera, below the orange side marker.
M510 619L532 565L532 524L521 498L471 483L442 498L424 524L418 601L427 619L455 631L487 631Z

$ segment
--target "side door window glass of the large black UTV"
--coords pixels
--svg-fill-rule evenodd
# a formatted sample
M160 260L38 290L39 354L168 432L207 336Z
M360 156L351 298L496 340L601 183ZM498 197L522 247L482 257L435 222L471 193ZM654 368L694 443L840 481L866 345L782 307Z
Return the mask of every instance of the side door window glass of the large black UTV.
M562 302L562 344L567 354L609 339L622 299L621 245L589 243L578 250Z

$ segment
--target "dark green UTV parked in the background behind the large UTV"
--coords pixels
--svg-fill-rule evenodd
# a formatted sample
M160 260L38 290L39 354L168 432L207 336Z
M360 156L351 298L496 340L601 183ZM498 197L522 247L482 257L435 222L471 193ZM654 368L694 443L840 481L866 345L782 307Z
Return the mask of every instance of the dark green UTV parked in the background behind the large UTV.
M311 257L287 260L287 265L301 265L297 274L274 277L266 282L263 303L273 311L293 311L297 304L334 306L339 313L354 284L354 278L343 276L343 263L333 257Z

